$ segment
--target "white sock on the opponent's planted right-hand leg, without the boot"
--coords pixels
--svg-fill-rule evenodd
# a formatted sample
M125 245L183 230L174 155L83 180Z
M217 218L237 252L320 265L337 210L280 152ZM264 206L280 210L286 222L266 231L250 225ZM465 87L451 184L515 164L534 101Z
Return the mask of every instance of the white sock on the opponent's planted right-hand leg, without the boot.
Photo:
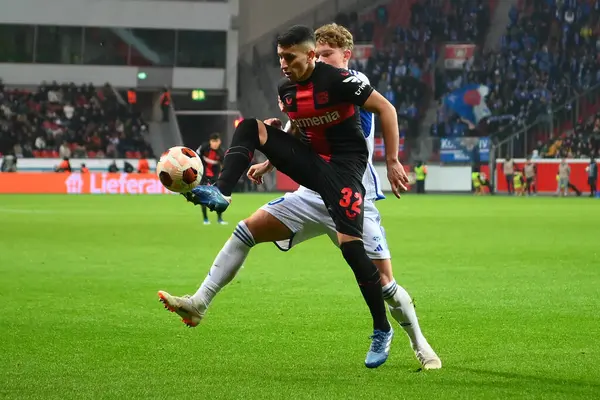
M383 287L383 298L388 303L392 317L398 321L410 338L410 344L413 348L427 345L427 340L421 332L417 313L408 292L396 281L391 281Z

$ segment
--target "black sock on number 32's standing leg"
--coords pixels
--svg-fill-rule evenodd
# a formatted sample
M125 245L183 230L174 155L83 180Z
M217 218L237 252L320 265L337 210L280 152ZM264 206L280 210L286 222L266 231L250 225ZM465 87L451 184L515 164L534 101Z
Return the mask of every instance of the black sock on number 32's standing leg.
M381 290L379 271L367 256L363 242L353 240L340 246L344 259L352 268L360 291L369 306L373 317L373 329L388 332L391 329L387 320L385 302Z

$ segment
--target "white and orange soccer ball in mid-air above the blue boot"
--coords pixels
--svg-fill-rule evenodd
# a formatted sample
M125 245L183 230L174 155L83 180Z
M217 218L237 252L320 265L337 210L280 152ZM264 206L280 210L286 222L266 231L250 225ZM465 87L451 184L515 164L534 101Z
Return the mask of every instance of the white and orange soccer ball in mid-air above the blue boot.
M189 192L200 184L204 166L196 152L183 146L165 151L156 164L160 182L172 192Z

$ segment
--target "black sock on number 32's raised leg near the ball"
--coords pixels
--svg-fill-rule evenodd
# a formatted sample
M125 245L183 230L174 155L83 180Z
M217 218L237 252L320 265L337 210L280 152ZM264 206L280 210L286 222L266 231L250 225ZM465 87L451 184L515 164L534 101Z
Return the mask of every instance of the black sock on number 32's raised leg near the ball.
M225 196L231 196L233 188L248 168L254 150L259 146L258 122L254 118L245 119L236 128L231 146L223 159L223 170L217 180L217 187Z

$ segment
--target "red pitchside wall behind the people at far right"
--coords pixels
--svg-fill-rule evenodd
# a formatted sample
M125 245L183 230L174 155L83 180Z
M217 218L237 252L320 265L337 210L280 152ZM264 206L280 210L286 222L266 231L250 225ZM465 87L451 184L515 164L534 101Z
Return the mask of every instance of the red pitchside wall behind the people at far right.
M499 158L496 160L496 191L507 192L506 176L504 175L504 162L506 160ZM520 170L525 165L524 158L515 158L515 167ZM556 175L558 174L558 165L560 159L540 159L533 160L537 165L537 191L538 193L556 193L558 182L556 181ZM588 191L588 181L586 167L589 165L590 160L588 159L567 159L567 163L571 167L570 182L575 185L582 192Z

